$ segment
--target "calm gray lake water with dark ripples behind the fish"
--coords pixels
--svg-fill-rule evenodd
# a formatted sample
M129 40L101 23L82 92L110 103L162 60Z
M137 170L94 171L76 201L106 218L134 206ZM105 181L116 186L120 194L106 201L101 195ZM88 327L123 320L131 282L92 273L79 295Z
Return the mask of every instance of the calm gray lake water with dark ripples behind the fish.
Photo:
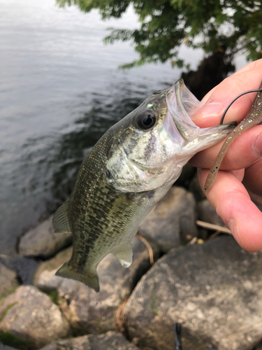
M102 39L107 27L138 27L132 9L103 22L54 0L0 0L0 18L0 254L14 255L22 233L68 197L105 130L181 71L169 63L117 69L136 52ZM196 68L202 52L181 50Z

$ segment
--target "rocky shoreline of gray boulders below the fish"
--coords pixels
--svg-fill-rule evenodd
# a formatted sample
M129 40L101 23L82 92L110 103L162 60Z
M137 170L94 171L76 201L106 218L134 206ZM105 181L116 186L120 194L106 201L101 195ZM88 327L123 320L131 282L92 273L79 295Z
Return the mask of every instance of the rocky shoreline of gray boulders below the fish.
M54 234L51 218L27 232L20 255L43 262L23 285L0 262L0 349L171 350L177 322L183 350L262 349L262 255L210 239L196 220L223 223L196 179L188 188L173 186L143 223L131 267L101 261L99 293L54 275L72 237Z

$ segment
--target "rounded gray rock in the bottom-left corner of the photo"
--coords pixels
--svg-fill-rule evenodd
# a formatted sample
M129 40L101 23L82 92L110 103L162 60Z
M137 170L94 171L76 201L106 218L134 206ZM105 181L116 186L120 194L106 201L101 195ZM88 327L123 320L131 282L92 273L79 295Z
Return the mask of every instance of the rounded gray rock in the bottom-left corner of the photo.
M18 349L37 349L70 335L59 307L34 286L20 286L0 307L0 342Z

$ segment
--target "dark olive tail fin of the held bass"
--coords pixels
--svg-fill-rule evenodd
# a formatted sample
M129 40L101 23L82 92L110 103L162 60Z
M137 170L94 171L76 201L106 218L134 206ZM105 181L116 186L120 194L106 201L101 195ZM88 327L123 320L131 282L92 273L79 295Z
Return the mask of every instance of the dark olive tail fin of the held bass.
M75 279L77 281L80 281L82 283L85 283L90 288L93 288L96 290L96 292L99 292L99 276L96 273L82 273L74 271L70 265L68 265L68 262L66 262L64 265L62 265L56 272L57 276L65 277L66 279Z

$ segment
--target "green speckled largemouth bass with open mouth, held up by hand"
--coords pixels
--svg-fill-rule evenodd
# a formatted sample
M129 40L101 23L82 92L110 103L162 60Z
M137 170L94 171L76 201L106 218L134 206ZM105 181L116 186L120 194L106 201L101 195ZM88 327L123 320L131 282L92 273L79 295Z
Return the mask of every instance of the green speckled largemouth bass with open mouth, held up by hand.
M131 240L182 167L235 126L197 127L190 117L201 106L180 79L103 134L82 162L71 196L54 214L54 232L73 234L71 259L57 276L99 292L96 267L105 255L131 265Z

